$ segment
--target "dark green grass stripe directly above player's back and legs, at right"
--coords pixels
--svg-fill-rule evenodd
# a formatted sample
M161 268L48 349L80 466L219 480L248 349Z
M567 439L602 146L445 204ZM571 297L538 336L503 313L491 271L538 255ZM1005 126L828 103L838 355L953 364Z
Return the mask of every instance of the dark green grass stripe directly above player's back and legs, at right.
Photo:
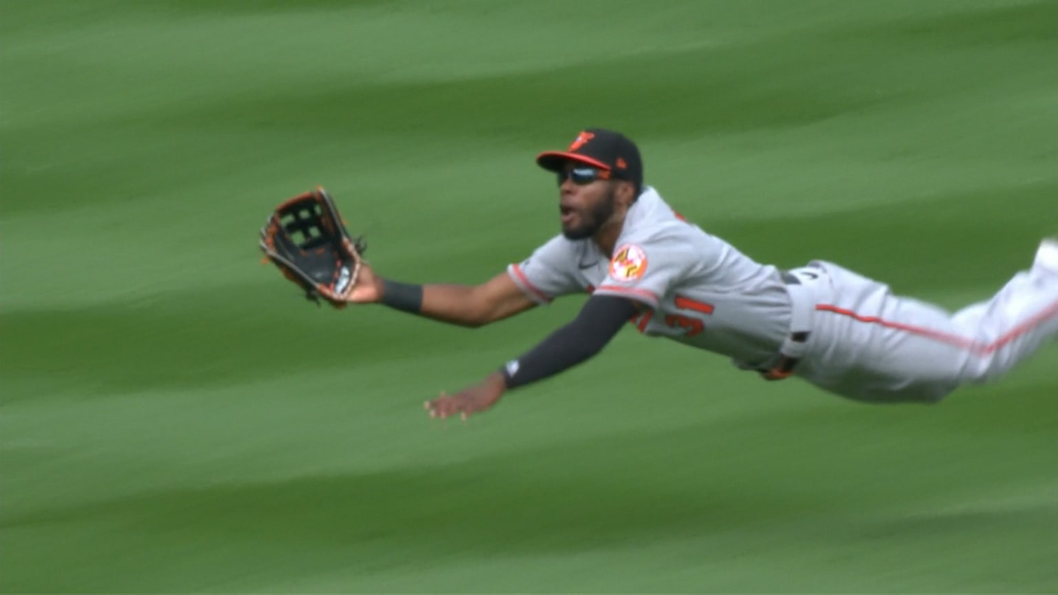
M763 262L832 260L901 293L980 288L984 299L1032 265L1043 237L1058 234L1056 203L1058 181L1050 180L803 218L709 222L708 203L679 208Z

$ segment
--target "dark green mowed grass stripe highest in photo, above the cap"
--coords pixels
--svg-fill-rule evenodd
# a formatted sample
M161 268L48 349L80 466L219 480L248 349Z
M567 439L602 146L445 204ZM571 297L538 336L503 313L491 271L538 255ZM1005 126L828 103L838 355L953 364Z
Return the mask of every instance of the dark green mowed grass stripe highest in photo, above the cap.
M997 26L1011 36L1011 19L1033 25L1038 22L1040 13L1046 10L1045 4L1003 10L1001 14L1006 18L1000 19ZM911 24L906 26L911 28ZM188 33L195 31L190 25L188 28ZM143 29L143 24L135 28L136 31ZM833 33L829 43L818 42L820 30ZM378 149L380 138L391 137L395 132L403 134L428 129L438 134L443 132L445 143L450 146L473 145L482 140L495 145L506 139L507 146L516 143L521 147L522 143L530 139L551 143L553 141L548 139L560 134L560 130L576 128L582 126L586 119L595 119L614 122L634 120L635 124L628 123L626 127L639 138L651 140L652 137L663 134L675 140L810 124L844 113L856 114L871 110L888 102L914 102L916 98L936 94L952 100L965 97L993 87L997 77L1009 76L1010 69L1007 65L1010 59L1018 59L1023 68L1036 65L1037 69L1043 69L1050 62L1048 53L1036 48L1040 41L1036 29L1029 29L1025 37L1034 43L1018 55L1011 55L1007 46L983 50L979 44L973 51L980 55L972 60L954 52L932 51L934 49L929 46L912 46L910 50L905 48L901 51L908 52L907 55L880 54L878 48L886 46L878 43L878 36L864 34L861 37L841 33L844 31L843 23L838 21L822 28L786 34L789 38L765 38L749 48L720 46L670 53L664 46L656 46L652 52L632 57L601 55L588 65L550 68L542 73L494 74L456 82L415 80L371 85L365 78L368 82L373 80L372 78L343 73L341 65L348 60L338 60L327 62L334 72L313 73L308 78L302 69L295 73L300 77L296 84L282 85L282 79L279 78L267 92L250 86L249 82L240 83L236 79L229 80L220 94L199 93L176 104L168 100L172 94L171 90L163 86L171 85L167 82L168 77L151 75L142 79L143 92L148 93L143 97L146 101L117 102L117 105L149 111L138 113L132 119L129 118L128 109L115 111L111 118L96 115L91 119L93 124L89 125L91 128L88 132L94 137L112 139L111 145L124 142L141 147L133 155L140 156L144 167L157 167L160 161L166 161L166 156L179 156L179 159L171 161L185 166L194 163L196 172L212 170L216 172L213 174L216 176L221 174L218 169L223 166L219 164L224 161L227 161L229 166L244 167L251 160L233 161L237 159L235 156L243 154L242 150L202 155L196 150L198 147L194 142L191 146L169 146L161 144L159 139L168 139L174 133L180 134L188 129L211 134L216 130L252 130L255 134L263 133L262 140L268 136L285 137L296 132L298 136L312 134L316 143L342 142L345 150L349 150L358 147L358 138L370 139ZM813 42L813 39L817 40ZM989 37L986 36L986 39ZM842 50L835 50L834 44ZM1044 49L1052 46L1045 46ZM237 55L253 55L252 50L252 47L234 49ZM596 56L599 53L596 50L589 55ZM873 66L870 69L850 69L847 65L852 62L843 59L846 54L859 56ZM142 58L141 61L150 62ZM184 68L195 72L211 67L209 64L202 62L203 57L200 56ZM561 62L554 64L558 66ZM800 68L804 64L813 67ZM108 73L111 67L107 62ZM630 77L636 79L637 84L622 93L620 102L599 97L594 90L595 86L578 84L585 68L592 72L592 78L599 82L597 85L622 87L622 82ZM933 75L938 70L945 72L943 78ZM682 75L672 77L667 74L673 71L681 72ZM101 74L113 76L108 73ZM62 75L58 78L65 80L69 77ZM96 78L93 78L93 83L98 85ZM116 79L114 82L117 83ZM1033 85L1043 83L1037 77ZM124 86L128 87L129 83L125 80ZM1053 84L1051 89L1053 90ZM17 97L16 94L13 98ZM468 103L468 97L471 97L471 103ZM526 102L526 97L534 100ZM560 97L563 109L554 109L551 102L560 101ZM107 109L112 109L114 104L109 96L104 103ZM627 106L651 106L651 109L639 109L634 118L630 118ZM135 138L142 134L142 122L152 118L151 114L156 111L164 113L152 125L158 136ZM686 115L677 119L677 123L676 120L669 121L665 115L669 113ZM123 127L127 127L130 133L122 134ZM20 144L25 149L33 146L48 147L48 158L41 156L36 159L33 152L28 152L11 165L15 173L26 177L31 177L39 168L49 169L45 174L32 176L36 178L34 182L38 187L36 195L52 195L47 192L49 186L41 184L70 185L69 180L63 182L66 177L61 172L54 170L54 149L68 147L60 150L71 150L68 143L59 142L69 139L69 126L57 129L57 133L62 134L61 139L48 137L47 129L41 130L40 127L33 129L31 134L20 134L17 128L7 133L15 140L24 140ZM133 138L123 139L128 136ZM144 150L144 145L158 148ZM945 143L947 147L951 145L951 142ZM72 169L76 173L74 177L81 183L85 179L94 178L97 185L90 186L90 192L85 192L86 188L81 187L75 193L67 190L54 196L63 196L65 203L69 204L76 202L78 197L91 197L91 200L97 201L108 196L120 198L128 194L122 192L122 185L123 182L128 183L129 164L125 160L112 158L109 162L101 161L108 159L107 156L111 152L99 148L93 143L91 147L73 148L75 152L70 155L70 161L78 164ZM434 144L422 148L427 149L423 154L431 154L425 159L427 162L443 159L444 156L463 155L463 151L445 151L443 147ZM253 147L253 152L260 151L260 147ZM128 157L132 156L127 155L125 159ZM350 159L353 157L350 156ZM397 157L400 159L403 156ZM117 163L122 167L114 167ZM182 177L186 178L189 169L184 169ZM107 175L108 170L112 175ZM14 179L13 195L30 196L30 184L23 187L19 179L20 176ZM179 180L171 178L167 181L179 183ZM108 187L110 192L107 192ZM34 208L31 204L36 208L48 204L47 199L42 201L39 198L32 203L29 200L5 202L8 211Z

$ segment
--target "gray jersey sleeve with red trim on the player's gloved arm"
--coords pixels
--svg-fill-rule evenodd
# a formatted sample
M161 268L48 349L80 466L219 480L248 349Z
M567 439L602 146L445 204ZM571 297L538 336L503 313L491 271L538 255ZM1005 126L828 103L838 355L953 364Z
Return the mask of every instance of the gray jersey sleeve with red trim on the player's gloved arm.
M559 235L541 246L521 263L507 267L507 274L537 304L547 304L560 295L582 291L574 267L573 244Z

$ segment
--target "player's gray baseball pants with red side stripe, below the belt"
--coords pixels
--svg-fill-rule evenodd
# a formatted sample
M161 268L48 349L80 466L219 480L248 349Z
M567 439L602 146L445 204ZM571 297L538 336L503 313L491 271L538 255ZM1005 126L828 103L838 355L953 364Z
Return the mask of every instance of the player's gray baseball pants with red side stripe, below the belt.
M996 378L1058 336L1058 244L992 299L955 314L831 263L798 376L870 402L934 402Z

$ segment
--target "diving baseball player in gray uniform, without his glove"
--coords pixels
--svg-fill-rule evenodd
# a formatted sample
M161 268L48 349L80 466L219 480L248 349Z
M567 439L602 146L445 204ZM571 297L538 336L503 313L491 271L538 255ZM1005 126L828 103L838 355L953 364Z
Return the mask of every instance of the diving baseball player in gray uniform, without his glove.
M872 402L937 401L1058 336L1058 239L990 300L952 313L834 263L753 262L643 185L639 150L619 132L584 130L536 163L558 176L562 233L529 258L477 286L398 283L365 265L348 299L480 326L590 294L574 320L479 384L427 401L431 416L485 411L595 356L630 322L769 380L797 376Z

